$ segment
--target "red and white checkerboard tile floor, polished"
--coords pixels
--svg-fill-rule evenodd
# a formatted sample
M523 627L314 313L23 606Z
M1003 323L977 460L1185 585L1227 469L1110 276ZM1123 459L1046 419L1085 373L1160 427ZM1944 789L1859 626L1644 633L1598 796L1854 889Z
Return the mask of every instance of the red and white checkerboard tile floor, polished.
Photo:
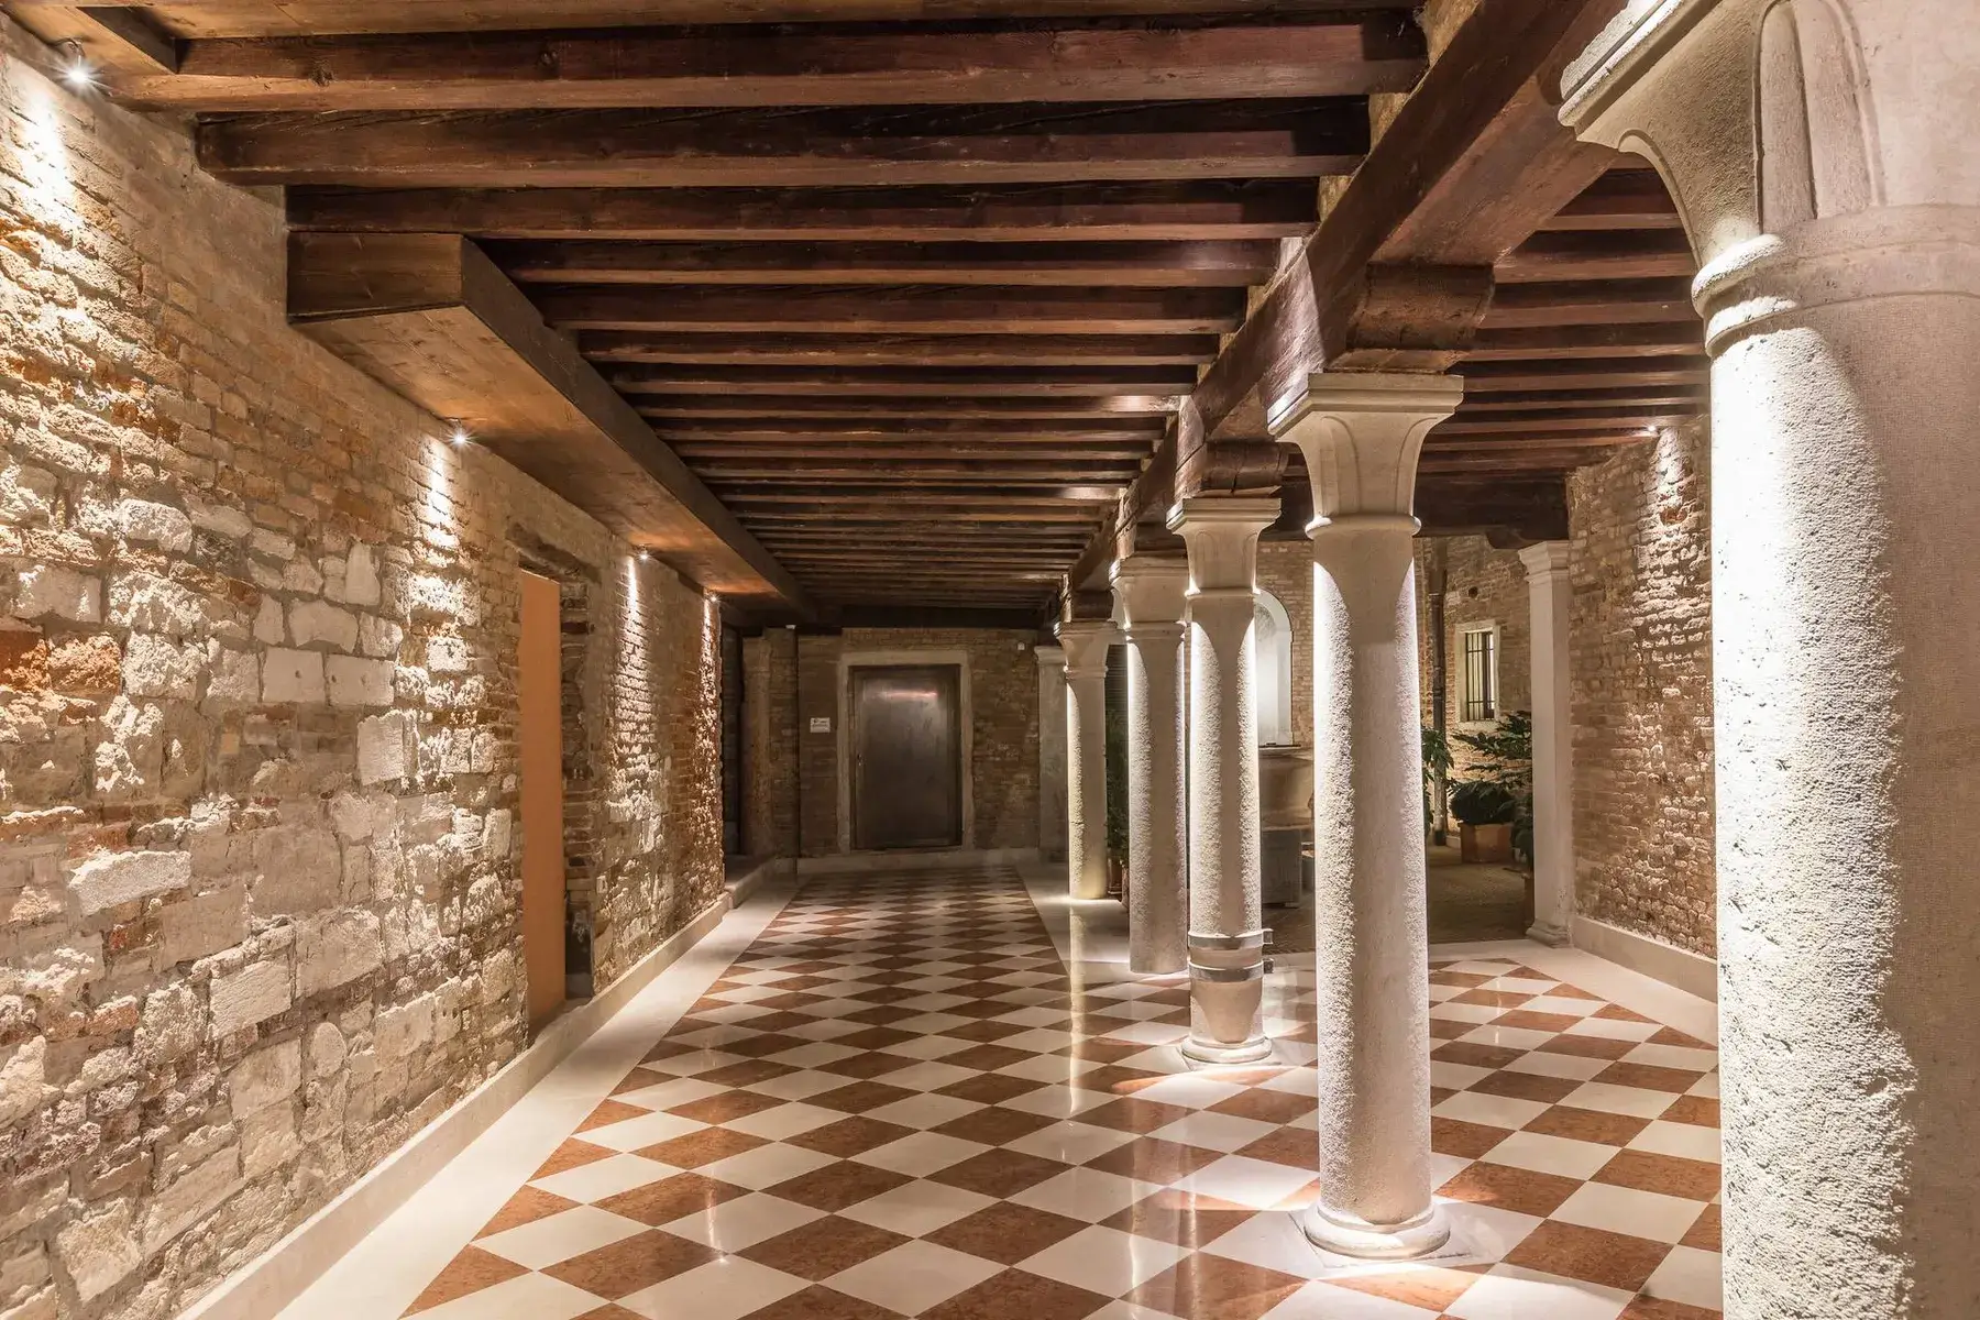
M1705 1320L1717 1055L1509 960L1432 972L1465 1257L1342 1267L1295 1065L1188 1071L1186 990L1067 970L1008 871L814 881L418 1296L424 1320Z

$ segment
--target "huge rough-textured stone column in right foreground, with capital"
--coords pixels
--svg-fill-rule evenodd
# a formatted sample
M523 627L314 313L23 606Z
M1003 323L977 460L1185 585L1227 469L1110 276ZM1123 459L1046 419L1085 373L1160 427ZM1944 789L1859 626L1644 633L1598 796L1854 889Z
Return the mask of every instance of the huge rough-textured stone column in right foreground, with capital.
M1703 263L1725 1312L1980 1314L1972 0L1637 0L1566 87Z

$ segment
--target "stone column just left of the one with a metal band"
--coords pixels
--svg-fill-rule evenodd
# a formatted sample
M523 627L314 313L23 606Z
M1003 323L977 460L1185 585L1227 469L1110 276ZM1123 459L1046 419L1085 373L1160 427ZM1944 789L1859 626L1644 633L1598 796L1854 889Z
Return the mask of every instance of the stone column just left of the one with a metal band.
M1146 554L1115 564L1127 629L1127 966L1188 966L1182 805L1182 615L1190 566Z

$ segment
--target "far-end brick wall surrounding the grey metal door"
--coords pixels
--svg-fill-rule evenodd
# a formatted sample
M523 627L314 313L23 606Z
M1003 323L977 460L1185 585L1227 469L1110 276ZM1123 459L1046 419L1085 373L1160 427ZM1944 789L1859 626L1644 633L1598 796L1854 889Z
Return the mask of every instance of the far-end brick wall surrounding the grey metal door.
M1016 629L849 627L798 637L798 766L802 853L840 851L840 655L847 651L962 651L970 685L970 796L966 847L1038 847L1036 633ZM812 718L832 732L812 732Z

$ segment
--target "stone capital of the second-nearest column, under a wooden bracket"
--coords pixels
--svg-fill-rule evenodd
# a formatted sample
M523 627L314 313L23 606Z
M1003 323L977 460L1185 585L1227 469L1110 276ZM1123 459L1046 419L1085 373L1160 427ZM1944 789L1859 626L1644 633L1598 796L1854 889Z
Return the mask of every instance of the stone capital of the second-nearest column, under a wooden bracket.
M1465 382L1430 372L1315 372L1271 416L1299 445L1313 483L1315 532L1342 519L1410 519L1416 459L1430 427L1457 412Z

